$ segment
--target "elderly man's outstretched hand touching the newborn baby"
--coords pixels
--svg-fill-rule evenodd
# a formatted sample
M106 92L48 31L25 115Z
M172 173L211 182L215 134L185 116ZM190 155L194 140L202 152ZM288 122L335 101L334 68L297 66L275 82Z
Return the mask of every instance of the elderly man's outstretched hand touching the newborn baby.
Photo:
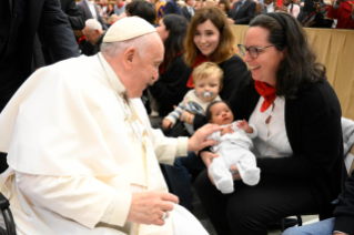
M188 141L188 151L200 151L206 146L211 146L216 144L218 142L214 140L205 140L209 135L211 135L215 131L220 131L222 127L215 124L206 124L200 127L192 137Z

